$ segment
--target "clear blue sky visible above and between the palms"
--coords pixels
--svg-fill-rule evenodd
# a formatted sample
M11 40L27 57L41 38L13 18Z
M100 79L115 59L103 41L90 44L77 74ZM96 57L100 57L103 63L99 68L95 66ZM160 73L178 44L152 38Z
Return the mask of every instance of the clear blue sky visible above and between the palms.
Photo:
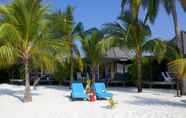
M0 0L5 2L7 0ZM120 13L121 0L45 0L53 11L64 10L69 4L75 7L76 22L83 22L86 29L101 28L103 24L117 20ZM177 3L180 29L186 31L186 13ZM141 12L144 15L144 12ZM175 36L172 16L168 16L163 7L160 7L158 16L153 25L150 25L152 38L170 40Z

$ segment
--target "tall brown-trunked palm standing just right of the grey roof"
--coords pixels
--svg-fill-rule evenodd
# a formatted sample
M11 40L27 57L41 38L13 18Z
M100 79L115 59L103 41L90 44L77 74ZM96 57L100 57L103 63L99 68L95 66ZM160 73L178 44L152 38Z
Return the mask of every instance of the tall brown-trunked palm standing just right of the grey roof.
M114 23L106 24L105 32L112 36L109 40L103 40L102 45L127 47L135 52L137 64L137 88L142 92L142 53L144 51L153 52L154 56L162 59L166 52L166 45L160 40L147 40L150 35L150 28L143 21L133 15L131 11L122 12L119 20Z

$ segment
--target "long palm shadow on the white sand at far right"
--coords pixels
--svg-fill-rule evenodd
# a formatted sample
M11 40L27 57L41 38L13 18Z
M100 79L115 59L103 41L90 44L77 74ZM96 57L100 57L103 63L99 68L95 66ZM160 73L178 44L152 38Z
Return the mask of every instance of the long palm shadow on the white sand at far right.
M174 101L165 101L165 100L160 100L160 99L155 99L155 98L145 98L145 97L139 97L135 96L136 100L130 101L130 104L133 105L139 105L139 106L144 106L144 105L155 105L155 106L172 106L172 107L181 107L181 108L186 108L186 101L185 103L180 103L180 102L174 102Z

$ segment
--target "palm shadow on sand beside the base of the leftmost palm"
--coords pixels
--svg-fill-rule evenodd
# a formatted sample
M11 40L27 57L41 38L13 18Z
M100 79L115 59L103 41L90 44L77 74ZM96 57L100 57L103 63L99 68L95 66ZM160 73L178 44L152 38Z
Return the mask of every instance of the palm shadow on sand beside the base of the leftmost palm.
M0 89L0 96L2 95L8 95L8 96L12 96L16 99L18 99L19 101L23 102L23 90L10 90L10 89ZM32 95L38 95L36 93L32 93Z

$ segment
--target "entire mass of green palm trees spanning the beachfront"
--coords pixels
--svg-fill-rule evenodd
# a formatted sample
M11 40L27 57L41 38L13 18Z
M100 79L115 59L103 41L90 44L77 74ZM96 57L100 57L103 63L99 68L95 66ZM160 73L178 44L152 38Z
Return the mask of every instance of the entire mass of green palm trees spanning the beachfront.
M133 72L137 75L138 92L142 92L144 52L151 53L158 62L173 57L171 70L177 78L184 78L186 64L182 59L176 2L186 10L184 0L122 0L121 13L115 22L85 31L83 23L75 22L74 7L70 5L64 11L51 12L42 0L12 0L0 5L0 66L6 68L17 63L24 66L24 102L32 100L29 77L32 70L54 73L59 75L54 76L58 80L65 76L72 82L77 66L81 71L90 68L94 82L102 55L113 47L134 52ZM154 23L160 5L173 17L175 47L161 39L151 39L149 24ZM140 17L141 8L146 11L144 18ZM84 59L76 41L82 44ZM176 54L169 53L173 51Z

